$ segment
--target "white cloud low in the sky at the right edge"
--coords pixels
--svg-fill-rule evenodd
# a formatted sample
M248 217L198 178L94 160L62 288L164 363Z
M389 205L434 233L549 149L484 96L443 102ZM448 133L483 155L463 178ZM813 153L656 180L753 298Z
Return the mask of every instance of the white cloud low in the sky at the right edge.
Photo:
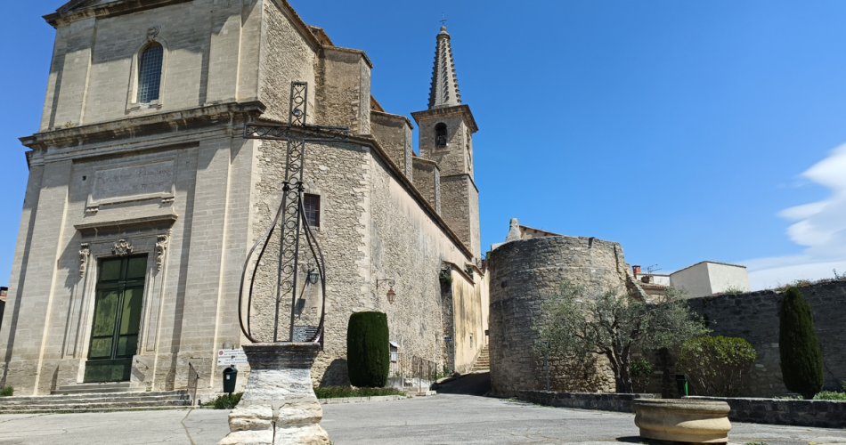
M790 239L806 248L801 255L743 262L753 289L777 287L794 279L834 278L833 269L846 273L846 144L801 175L831 189L832 194L778 214L793 222L787 229Z

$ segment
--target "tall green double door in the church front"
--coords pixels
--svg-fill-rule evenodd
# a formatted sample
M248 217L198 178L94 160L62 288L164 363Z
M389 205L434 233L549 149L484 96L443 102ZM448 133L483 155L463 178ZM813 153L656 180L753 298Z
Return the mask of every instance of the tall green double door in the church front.
M102 260L85 382L129 380L138 350L147 255Z

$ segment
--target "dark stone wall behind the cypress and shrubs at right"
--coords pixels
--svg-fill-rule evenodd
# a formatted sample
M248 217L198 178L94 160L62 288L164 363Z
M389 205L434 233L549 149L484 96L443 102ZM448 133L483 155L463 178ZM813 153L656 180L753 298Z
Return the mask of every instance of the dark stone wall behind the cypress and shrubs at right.
M846 380L846 282L835 281L799 288L814 316L814 330L823 352L825 390L841 390ZM778 352L778 311L783 294L773 290L739 295L714 295L689 300L691 308L705 317L712 336L737 336L746 339L758 352L758 359L740 394L744 397L772 397L787 392L781 374ZM653 357L654 376L650 391L665 397L676 394L675 352L661 352Z

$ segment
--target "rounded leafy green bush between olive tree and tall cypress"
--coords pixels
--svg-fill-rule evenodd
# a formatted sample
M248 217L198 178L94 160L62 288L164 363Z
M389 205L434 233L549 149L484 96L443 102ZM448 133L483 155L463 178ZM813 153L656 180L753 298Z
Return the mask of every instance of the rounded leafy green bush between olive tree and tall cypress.
M681 345L676 368L687 374L697 394L733 397L757 357L743 338L704 336Z

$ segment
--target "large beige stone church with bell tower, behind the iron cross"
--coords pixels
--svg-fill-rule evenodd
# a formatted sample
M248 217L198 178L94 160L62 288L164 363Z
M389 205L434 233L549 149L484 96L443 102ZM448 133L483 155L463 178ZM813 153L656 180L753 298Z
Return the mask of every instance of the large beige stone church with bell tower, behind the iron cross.
M366 53L284 0L74 0L45 20L56 39L40 129L21 138L29 179L0 384L20 395L99 381L172 390L190 363L201 388L219 388L216 352L246 341L240 275L285 168L284 142L244 139L243 128L287 123L292 81L309 85L309 124L351 134L306 149L308 223L328 279L314 383L348 383L346 323L360 311L386 312L403 354L472 367L488 308L478 128L445 28L428 108L411 113L418 156L411 120L371 96ZM275 275L264 269L275 260L265 261L252 311L254 334L268 338ZM319 292L303 290L300 317L319 313Z

